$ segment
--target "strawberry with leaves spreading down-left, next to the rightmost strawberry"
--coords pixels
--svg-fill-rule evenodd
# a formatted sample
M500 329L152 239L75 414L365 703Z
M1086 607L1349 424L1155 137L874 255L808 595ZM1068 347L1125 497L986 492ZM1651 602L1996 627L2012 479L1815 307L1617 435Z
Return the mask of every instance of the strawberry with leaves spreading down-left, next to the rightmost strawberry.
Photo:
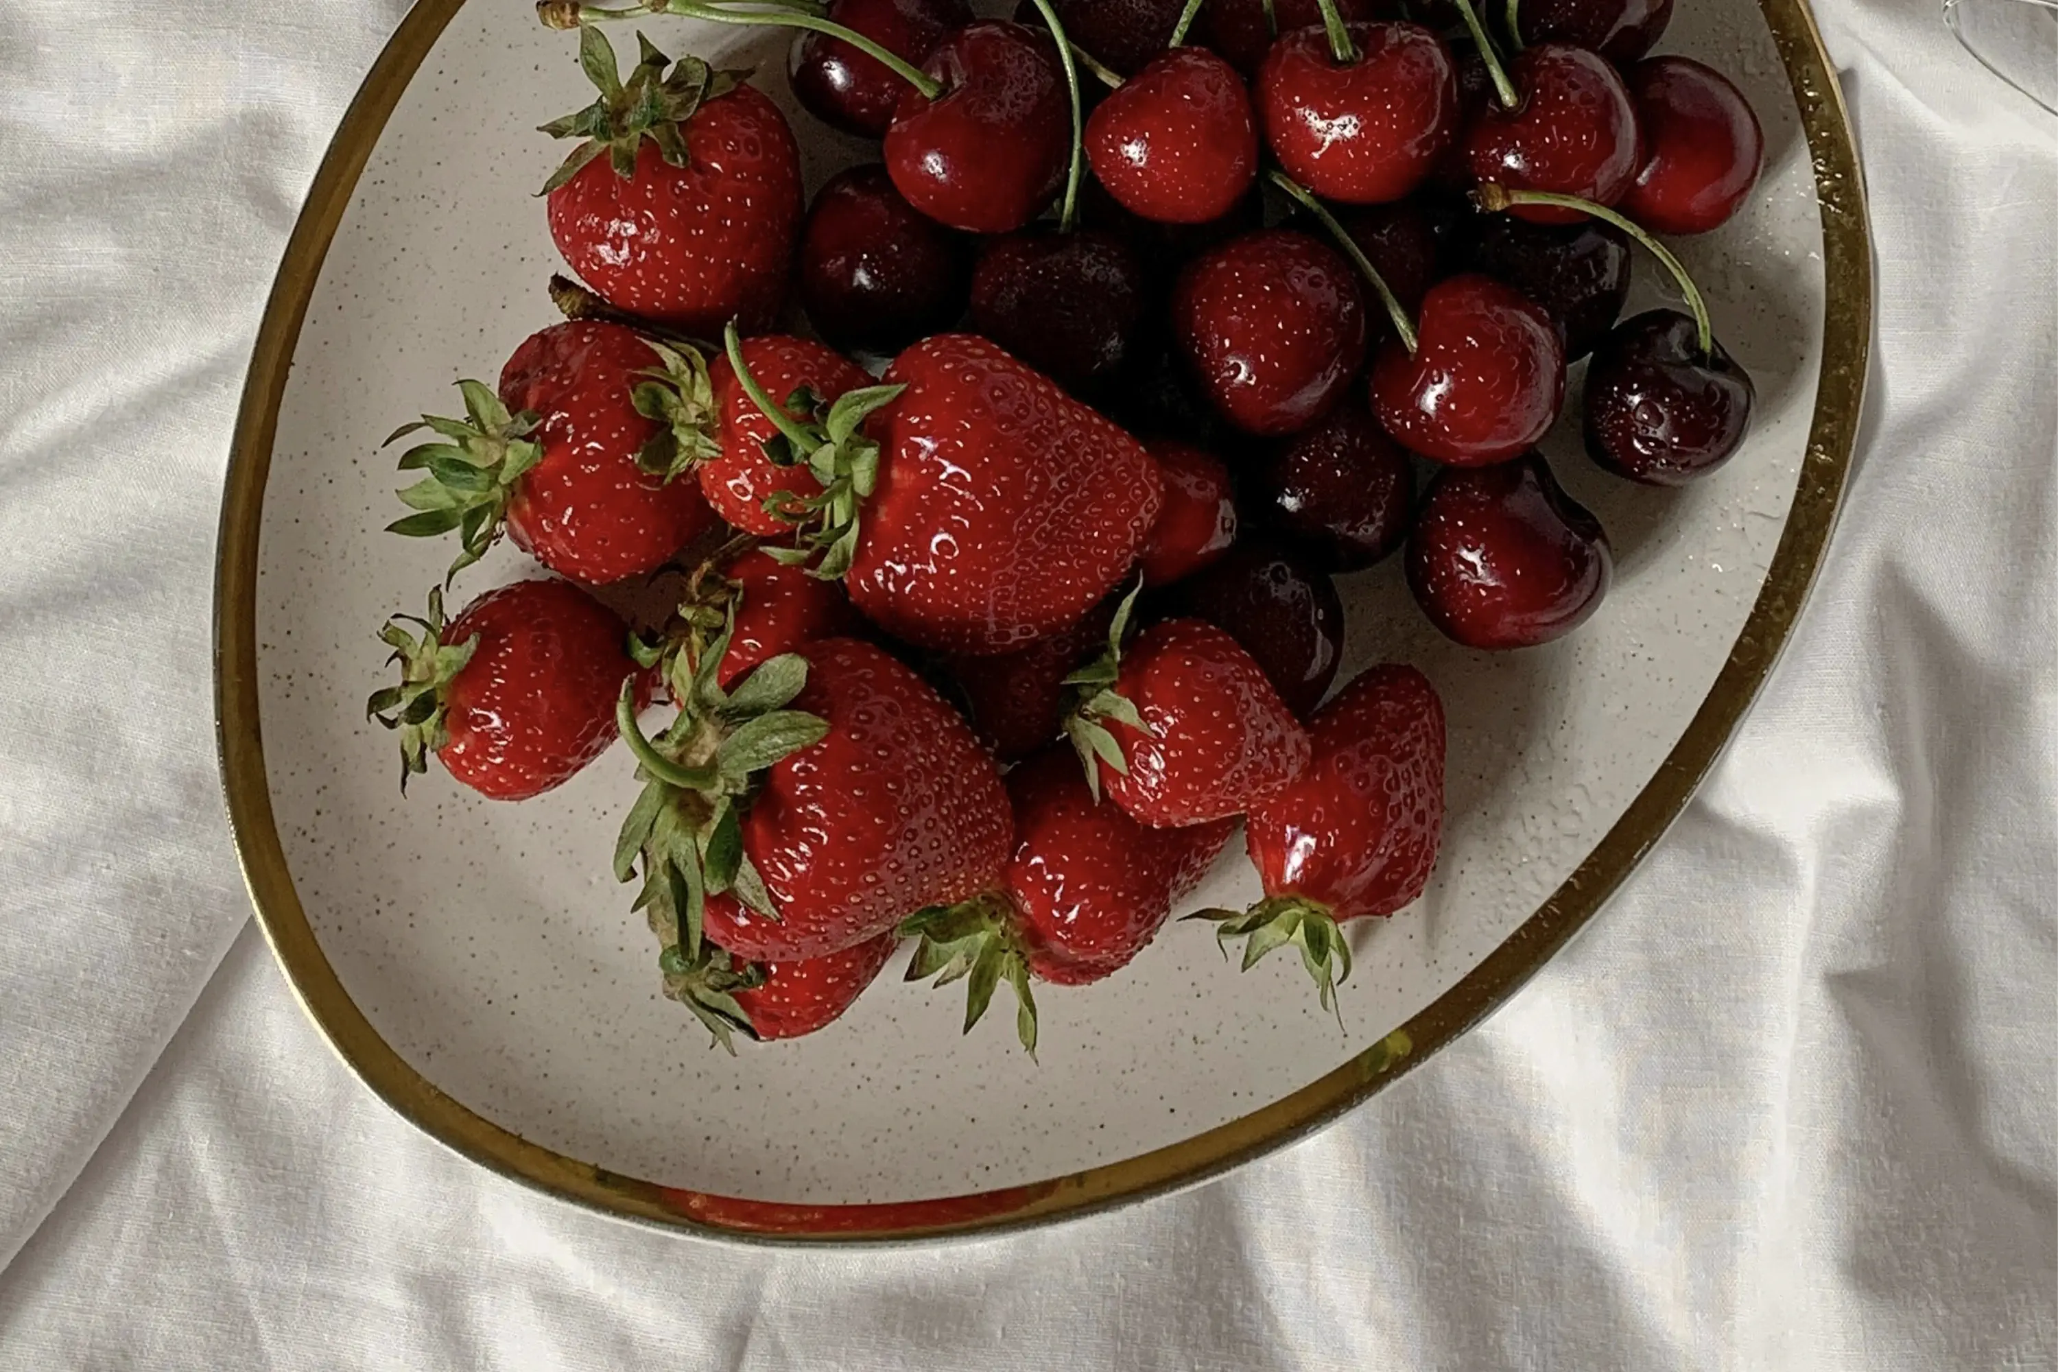
M969 975L965 1033L994 987L1015 987L1015 1031L1035 1053L1031 979L1103 981L1142 952L1171 905L1200 884L1235 821L1150 829L1101 804L1064 749L1045 749L1008 773L1015 856L996 889L901 924L922 942L908 979L949 985Z

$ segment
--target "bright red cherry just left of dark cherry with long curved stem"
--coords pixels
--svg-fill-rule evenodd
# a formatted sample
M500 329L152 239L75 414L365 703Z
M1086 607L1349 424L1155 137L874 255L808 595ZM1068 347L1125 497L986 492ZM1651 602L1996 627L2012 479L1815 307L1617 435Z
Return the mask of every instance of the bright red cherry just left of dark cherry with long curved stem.
M1408 448L1453 467L1502 463L1550 432L1564 405L1564 344L1535 302L1463 274L1422 296L1418 348L1387 339L1373 413Z

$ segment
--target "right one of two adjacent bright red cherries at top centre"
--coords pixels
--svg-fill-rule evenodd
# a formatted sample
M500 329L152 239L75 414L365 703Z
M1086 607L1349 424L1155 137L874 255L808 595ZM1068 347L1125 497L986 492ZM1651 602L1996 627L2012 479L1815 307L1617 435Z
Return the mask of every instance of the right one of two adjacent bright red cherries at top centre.
M1422 25L1299 29L1257 68L1257 117L1286 175L1313 193L1399 200L1457 138L1457 64Z

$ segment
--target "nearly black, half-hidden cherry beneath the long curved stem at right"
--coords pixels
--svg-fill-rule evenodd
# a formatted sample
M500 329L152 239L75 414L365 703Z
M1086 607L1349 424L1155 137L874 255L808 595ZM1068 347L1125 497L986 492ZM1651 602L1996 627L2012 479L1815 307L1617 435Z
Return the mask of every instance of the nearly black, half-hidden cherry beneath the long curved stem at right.
M1476 214L1463 239L1469 272L1506 282L1558 321L1566 362L1593 352L1630 298L1630 234L1613 224L1531 224L1513 214Z

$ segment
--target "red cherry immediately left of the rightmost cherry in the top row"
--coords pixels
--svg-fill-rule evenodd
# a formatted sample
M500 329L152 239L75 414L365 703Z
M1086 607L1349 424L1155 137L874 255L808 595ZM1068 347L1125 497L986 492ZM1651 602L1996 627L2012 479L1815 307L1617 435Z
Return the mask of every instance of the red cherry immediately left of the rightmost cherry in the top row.
M1537 43L1509 68L1519 101L1488 101L1471 121L1471 175L1506 189L1556 191L1613 206L1642 167L1636 105L1605 58L1585 47ZM1576 224L1578 210L1521 206L1537 224Z

